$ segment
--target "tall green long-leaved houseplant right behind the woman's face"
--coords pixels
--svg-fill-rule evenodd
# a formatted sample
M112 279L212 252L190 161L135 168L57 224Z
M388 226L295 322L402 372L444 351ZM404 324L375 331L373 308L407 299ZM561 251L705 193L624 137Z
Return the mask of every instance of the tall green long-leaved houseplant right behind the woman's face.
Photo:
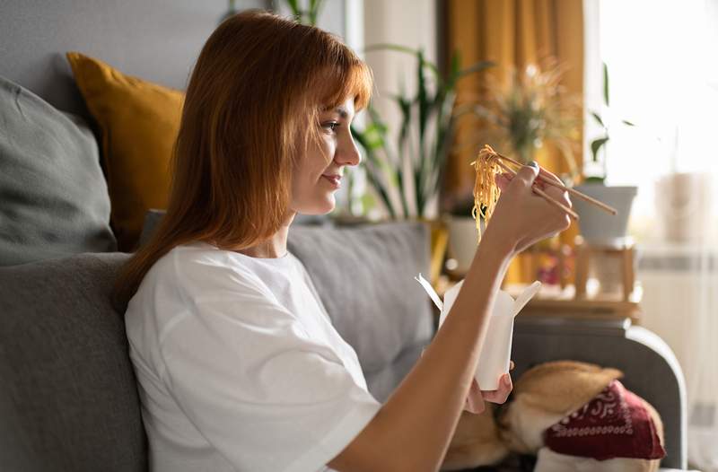
M397 45L368 48L389 49L416 58L416 92L398 92L392 101L401 115L396 140L372 103L365 127L352 127L363 148L369 184L391 218L433 217L432 205L441 188L447 157L454 138L456 118L471 112L454 109L456 83L460 77L485 70L493 63L483 61L465 69L454 54L449 70L442 74L427 61L421 49Z

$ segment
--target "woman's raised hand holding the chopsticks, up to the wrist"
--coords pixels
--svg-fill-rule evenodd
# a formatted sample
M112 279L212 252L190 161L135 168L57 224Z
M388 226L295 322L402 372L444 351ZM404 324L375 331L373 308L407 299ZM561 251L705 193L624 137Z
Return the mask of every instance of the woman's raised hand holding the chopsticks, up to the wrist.
M523 166L513 178L508 174L496 175L496 185L501 188L501 197L484 237L494 240L496 244L509 244L509 249L514 254L538 240L564 231L571 224L571 219L565 212L550 205L531 190L539 171L538 164L532 164L536 167ZM542 170L541 174L542 177L561 182L547 170ZM536 182L536 186L549 197L571 207L571 200L564 190L545 185L540 180Z

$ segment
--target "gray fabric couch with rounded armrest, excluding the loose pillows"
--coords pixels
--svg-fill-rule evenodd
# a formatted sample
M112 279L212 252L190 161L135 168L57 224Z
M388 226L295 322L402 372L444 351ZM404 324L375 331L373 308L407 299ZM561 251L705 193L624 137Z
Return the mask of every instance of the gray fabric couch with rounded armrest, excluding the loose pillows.
M425 227L299 227L290 249L355 346L372 393L386 398L432 335L430 307L412 280L428 263ZM126 259L83 254L0 268L0 470L146 470L124 307L109 302ZM685 388L673 354L651 332L519 317L512 358L514 376L566 358L622 369L626 387L663 418L662 466L686 467Z

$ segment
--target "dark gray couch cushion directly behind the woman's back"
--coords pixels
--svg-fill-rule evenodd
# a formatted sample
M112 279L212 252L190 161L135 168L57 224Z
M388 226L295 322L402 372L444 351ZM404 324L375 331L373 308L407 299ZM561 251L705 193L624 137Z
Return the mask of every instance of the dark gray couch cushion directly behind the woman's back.
M123 317L109 302L126 259L0 268L3 470L146 470Z

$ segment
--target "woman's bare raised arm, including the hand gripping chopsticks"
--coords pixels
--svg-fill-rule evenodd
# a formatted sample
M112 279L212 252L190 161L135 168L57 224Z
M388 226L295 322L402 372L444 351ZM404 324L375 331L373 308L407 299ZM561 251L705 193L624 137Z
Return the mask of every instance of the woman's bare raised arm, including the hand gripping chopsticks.
M531 193L537 170L509 183L442 329L362 433L329 462L339 471L438 470L479 361L488 315L517 249L568 225L565 214ZM549 191L547 189L547 191ZM568 198L561 192L552 197Z

